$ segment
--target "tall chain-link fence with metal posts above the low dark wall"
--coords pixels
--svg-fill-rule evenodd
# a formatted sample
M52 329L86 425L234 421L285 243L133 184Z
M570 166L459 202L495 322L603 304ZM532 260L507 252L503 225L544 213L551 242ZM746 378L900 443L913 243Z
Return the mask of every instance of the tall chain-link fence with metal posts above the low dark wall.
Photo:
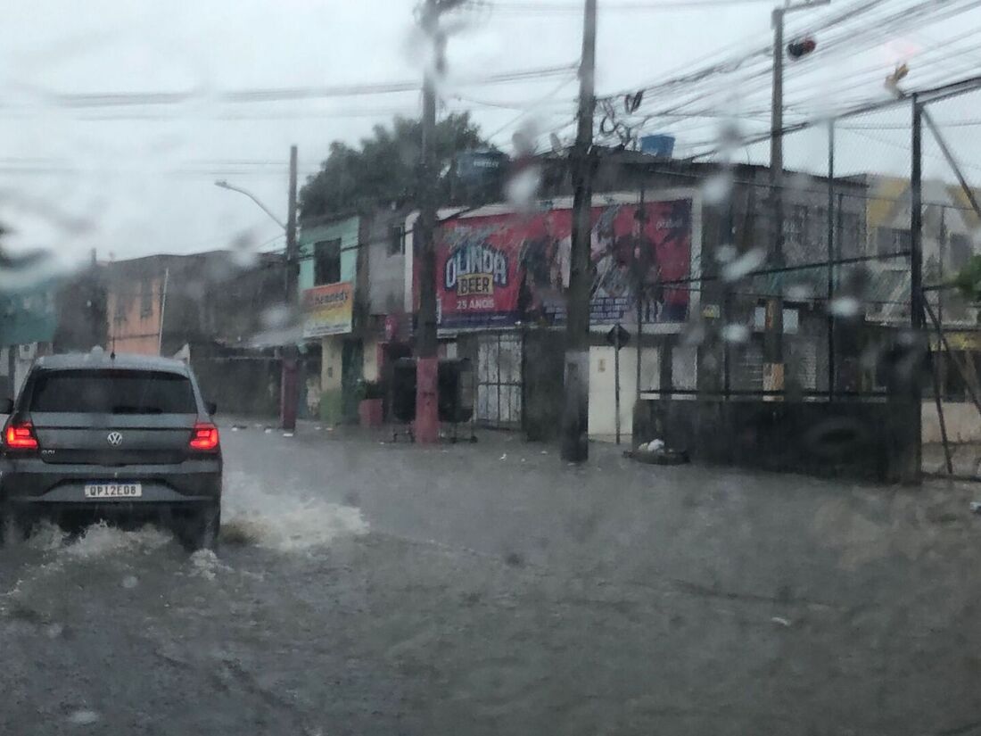
M964 83L647 166L637 197L683 177L701 227L689 273L659 275L690 294L680 334L642 321L660 370L641 395L903 404L924 443L981 442L978 102Z

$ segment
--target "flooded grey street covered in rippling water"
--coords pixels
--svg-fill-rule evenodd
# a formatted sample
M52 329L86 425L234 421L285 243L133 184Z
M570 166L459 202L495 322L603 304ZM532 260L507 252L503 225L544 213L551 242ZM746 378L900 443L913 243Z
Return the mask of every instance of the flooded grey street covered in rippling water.
M974 489L227 428L223 547L0 552L0 733L981 733Z

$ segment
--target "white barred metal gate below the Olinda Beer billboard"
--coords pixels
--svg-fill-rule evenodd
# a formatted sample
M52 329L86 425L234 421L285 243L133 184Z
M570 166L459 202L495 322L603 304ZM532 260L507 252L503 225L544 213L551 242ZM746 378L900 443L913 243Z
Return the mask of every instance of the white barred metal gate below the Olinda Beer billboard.
M522 336L490 333L477 339L477 423L519 429L522 416Z

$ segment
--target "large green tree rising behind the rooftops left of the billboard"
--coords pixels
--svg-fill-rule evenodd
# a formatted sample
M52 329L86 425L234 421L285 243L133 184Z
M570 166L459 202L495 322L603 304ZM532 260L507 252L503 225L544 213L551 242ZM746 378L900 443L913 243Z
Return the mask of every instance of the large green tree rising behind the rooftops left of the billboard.
M304 219L349 210L368 210L376 204L415 198L422 124L395 118L391 127L375 126L373 135L351 147L335 141L321 170L300 189ZM437 167L443 197L448 195L448 171L453 157L470 148L487 147L469 113L453 113L437 123Z

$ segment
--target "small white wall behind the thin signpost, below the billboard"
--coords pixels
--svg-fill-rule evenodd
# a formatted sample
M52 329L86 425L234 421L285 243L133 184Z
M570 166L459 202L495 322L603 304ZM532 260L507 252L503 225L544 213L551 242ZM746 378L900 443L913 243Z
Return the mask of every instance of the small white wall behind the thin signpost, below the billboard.
M613 442L616 439L616 399L612 347L590 348L590 439ZM641 356L641 389L660 386L660 350L645 347ZM620 435L629 441L637 397L637 348L620 348Z

